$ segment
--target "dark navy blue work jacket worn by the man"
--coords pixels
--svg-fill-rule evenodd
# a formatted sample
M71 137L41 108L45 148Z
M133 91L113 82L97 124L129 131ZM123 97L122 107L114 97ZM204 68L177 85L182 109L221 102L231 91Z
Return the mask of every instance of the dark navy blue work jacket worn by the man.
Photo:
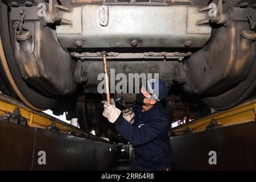
M142 106L133 104L135 113L131 125L119 115L114 122L117 131L134 145L134 170L165 170L171 168L174 161L168 131L170 118L162 104L157 103L151 109L142 112Z

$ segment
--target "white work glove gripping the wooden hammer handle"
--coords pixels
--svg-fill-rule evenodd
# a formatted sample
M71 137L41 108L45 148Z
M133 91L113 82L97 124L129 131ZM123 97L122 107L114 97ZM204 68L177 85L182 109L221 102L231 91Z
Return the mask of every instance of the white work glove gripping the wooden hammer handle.
M110 103L108 103L107 101L102 101L101 103L104 104L104 111L102 115L108 118L109 122L114 123L121 114L121 110L115 107L114 99L111 98Z

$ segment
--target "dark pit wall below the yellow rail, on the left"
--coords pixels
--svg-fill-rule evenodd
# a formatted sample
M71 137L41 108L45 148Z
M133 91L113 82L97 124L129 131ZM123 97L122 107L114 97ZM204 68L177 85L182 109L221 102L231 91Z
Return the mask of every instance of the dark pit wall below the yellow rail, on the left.
M1 170L104 170L113 162L112 144L3 121L0 140ZM46 152L45 165L39 151Z

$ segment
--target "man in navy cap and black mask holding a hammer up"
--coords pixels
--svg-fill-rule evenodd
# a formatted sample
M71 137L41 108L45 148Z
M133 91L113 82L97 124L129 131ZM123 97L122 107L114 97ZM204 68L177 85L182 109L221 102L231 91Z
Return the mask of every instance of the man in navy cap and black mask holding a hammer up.
M156 85L158 82L158 86ZM157 93L157 94L156 94ZM168 87L160 78L147 80L137 93L130 110L117 109L114 100L103 101L102 115L114 123L117 131L134 146L132 170L167 170L174 160L168 131L170 118L159 102L168 94ZM133 123L134 121L134 123Z

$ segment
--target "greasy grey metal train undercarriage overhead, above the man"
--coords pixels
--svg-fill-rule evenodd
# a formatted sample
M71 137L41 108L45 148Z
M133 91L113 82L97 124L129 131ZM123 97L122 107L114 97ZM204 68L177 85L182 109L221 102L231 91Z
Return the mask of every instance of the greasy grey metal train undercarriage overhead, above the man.
M106 133L97 90L104 51L115 73L158 73L170 115L177 97L226 110L255 96L255 30L249 0L1 1L0 90Z

